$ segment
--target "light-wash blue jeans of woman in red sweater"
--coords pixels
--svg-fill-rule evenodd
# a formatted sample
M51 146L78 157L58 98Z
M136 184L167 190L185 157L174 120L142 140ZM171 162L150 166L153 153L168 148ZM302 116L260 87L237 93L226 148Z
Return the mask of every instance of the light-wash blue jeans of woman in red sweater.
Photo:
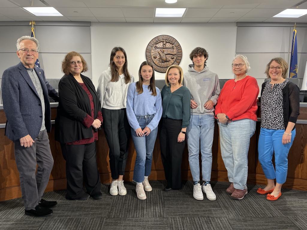
M223 162L227 169L228 180L235 189L247 189L247 154L250 139L256 129L256 121L242 119L222 124L220 128L220 145Z

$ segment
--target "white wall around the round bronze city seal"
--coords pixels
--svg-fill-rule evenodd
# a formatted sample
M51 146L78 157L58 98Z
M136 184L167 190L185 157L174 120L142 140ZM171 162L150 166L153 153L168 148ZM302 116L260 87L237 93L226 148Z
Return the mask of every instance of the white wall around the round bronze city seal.
M233 77L231 61L235 56L237 27L235 23L91 23L92 81L95 86L104 70L108 68L113 47L125 49L128 70L138 80L140 64L146 60L146 47L158 35L173 36L182 48L180 66L184 71L192 61L189 54L197 46L209 53L208 67L220 79ZM156 79L165 74L155 72Z

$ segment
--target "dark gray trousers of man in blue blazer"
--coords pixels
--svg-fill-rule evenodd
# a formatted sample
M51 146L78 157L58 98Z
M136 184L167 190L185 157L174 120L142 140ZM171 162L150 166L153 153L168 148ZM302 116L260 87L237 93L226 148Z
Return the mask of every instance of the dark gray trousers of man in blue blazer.
M32 137L33 138L33 137ZM46 129L40 131L30 148L14 141L15 161L19 171L21 194L26 210L34 209L44 194L53 167ZM36 166L37 172L36 172Z

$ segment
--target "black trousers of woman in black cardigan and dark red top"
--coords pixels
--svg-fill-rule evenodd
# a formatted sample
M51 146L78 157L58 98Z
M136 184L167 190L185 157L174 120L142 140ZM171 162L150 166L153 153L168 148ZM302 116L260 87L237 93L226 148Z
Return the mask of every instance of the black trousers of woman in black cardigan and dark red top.
M66 160L67 196L77 199L84 194L83 179L89 195L97 194L101 181L97 168L96 142L90 144L61 144Z

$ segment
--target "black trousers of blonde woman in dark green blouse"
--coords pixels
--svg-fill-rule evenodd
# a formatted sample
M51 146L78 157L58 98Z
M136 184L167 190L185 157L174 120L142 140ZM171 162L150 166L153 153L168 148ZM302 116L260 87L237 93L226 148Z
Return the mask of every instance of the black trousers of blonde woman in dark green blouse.
M161 158L168 186L181 188L181 163L185 140L177 142L182 120L162 118L160 129Z

